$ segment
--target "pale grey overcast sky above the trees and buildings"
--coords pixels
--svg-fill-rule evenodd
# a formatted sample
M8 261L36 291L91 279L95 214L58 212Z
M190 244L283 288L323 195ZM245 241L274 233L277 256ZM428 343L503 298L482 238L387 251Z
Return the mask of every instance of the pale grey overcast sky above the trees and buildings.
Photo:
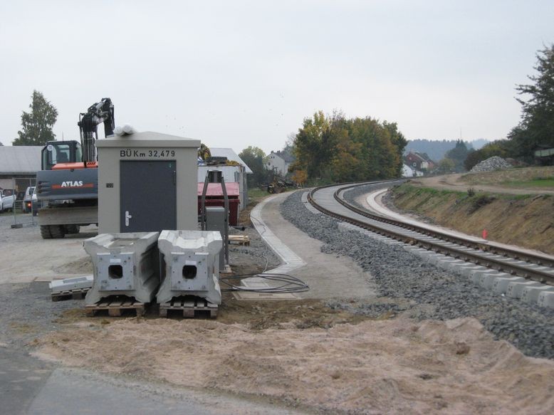
M554 42L554 1L1 1L0 142L33 89L57 139L100 98L209 147L281 149L305 117L397 122L409 139L496 140Z

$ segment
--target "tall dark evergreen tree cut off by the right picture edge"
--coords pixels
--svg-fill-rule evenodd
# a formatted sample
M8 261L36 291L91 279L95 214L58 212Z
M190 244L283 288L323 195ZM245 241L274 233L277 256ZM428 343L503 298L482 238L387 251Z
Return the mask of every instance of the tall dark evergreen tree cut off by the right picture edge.
M554 147L554 43L537 53L534 67L538 75L530 75L531 85L518 85L516 98L521 104L521 122L513 127L508 138L518 156L531 159L538 147Z

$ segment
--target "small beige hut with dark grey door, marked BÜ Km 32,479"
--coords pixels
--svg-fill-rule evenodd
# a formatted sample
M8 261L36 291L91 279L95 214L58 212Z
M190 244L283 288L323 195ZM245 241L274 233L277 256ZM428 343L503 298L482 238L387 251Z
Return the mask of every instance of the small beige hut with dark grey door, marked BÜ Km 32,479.
M197 228L199 140L135 132L96 147L98 233Z

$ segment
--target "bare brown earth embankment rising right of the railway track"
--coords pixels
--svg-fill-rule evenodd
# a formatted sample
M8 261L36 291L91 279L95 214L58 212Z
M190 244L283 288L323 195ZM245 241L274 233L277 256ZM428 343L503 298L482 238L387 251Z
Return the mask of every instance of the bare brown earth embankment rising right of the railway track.
M393 189L392 197L384 201L431 224L479 237L486 230L491 241L554 255L554 191L508 189L498 184L508 178L524 181L533 172L537 174L536 169L479 173L481 182L489 184L471 185L474 196L467 193L469 179L460 175L410 180ZM470 182L476 180L474 174L467 176Z

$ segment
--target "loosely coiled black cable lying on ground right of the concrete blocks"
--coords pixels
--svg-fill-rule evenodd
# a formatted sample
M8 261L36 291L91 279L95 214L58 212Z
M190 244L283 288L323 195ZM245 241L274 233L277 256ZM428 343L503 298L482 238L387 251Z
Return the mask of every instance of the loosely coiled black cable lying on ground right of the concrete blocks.
M236 280L238 283L247 280L249 278L261 278L263 280L270 280L272 282L281 283L274 287L268 288L249 288L243 285L236 285L237 283L231 283L232 280ZM260 274L242 274L242 275L229 275L228 277L222 277L219 279L219 283L228 288L221 288L223 292L231 291L243 291L248 293L303 293L308 291L310 287L292 275L287 274L273 274L273 273L260 273Z

